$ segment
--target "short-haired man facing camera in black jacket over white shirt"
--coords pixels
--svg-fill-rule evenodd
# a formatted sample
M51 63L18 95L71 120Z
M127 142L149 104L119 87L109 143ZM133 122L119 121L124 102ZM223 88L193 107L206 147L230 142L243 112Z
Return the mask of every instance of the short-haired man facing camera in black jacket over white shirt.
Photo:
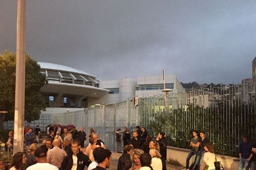
M61 163L61 170L84 170L92 163L87 155L79 152L80 141L75 139L71 143L72 153L67 155Z

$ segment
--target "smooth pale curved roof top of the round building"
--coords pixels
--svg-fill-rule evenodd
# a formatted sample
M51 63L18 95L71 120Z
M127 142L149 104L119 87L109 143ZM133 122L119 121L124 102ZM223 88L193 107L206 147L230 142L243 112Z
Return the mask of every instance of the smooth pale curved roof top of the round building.
M77 70L75 68L71 68L71 67L68 67L68 66L65 66L65 65L59 65L59 64L54 64L54 63L50 63L50 62L38 62L38 64L40 65L41 69L67 71L67 72L84 74L84 75L88 75L88 76L91 76L91 77L95 77L95 76L93 76L91 74L88 74L84 71Z

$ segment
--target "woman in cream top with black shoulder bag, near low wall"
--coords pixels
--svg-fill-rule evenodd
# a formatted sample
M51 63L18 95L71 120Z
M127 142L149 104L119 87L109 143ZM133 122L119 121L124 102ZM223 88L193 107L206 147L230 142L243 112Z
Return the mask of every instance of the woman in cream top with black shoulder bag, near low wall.
M204 150L206 151L206 153L204 153L204 159L202 165L200 166L200 170L204 170L204 168L207 167L207 170L215 170L215 154L212 143L207 142L206 144L204 144Z

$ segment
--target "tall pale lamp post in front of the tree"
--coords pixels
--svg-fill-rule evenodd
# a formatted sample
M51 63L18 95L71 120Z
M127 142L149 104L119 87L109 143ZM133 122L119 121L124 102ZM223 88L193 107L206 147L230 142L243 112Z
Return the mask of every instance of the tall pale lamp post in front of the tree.
M26 0L17 0L17 47L13 152L24 148Z

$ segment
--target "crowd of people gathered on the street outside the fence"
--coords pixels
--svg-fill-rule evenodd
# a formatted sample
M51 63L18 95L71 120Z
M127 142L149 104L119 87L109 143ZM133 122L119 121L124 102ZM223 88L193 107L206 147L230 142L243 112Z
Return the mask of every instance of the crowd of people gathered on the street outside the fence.
M152 140L148 136L145 127L137 126L132 132L132 137L127 127L116 130L117 152L119 157L117 170L166 170L166 136L159 132ZM105 143L99 139L99 135L93 128L89 129L89 135L84 132L84 127L78 131L76 127L61 128L58 126L47 127L47 139L39 144L41 134L37 126L32 131L31 127L25 128L24 143L25 152L15 153L12 164L3 167L0 161L0 169L23 170L26 163L27 170L104 170L111 163L111 151L105 148ZM212 143L207 139L206 133L192 131L190 140L191 150L186 158L186 167L183 170L215 170L214 162L217 161ZM88 139L88 145L85 144ZM123 150L121 150L123 142ZM6 152L13 146L13 131L9 132L6 142ZM239 170L256 170L256 144L249 141L248 136L242 137L239 144ZM190 159L192 164L189 164ZM149 161L150 160L150 161Z

